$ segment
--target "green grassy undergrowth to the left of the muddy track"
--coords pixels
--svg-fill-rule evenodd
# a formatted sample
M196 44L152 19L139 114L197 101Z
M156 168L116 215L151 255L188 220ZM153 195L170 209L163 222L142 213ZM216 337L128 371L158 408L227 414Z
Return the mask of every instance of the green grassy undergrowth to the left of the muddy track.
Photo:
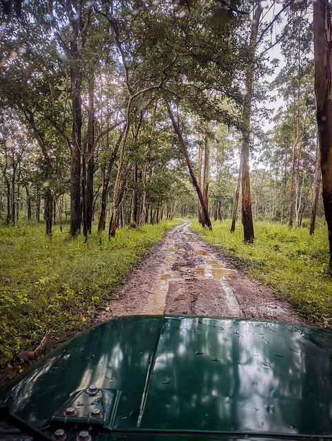
M0 227L0 369L46 331L69 337L88 327L94 309L178 223L118 229L112 240L93 233L87 242L56 227L52 238L43 225Z

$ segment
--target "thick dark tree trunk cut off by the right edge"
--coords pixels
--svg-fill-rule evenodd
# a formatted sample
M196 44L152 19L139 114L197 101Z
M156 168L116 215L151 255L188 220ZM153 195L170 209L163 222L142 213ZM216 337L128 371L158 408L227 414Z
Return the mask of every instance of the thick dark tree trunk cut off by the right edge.
M332 40L329 1L313 3L315 96L322 196L329 232L329 271L332 271Z

